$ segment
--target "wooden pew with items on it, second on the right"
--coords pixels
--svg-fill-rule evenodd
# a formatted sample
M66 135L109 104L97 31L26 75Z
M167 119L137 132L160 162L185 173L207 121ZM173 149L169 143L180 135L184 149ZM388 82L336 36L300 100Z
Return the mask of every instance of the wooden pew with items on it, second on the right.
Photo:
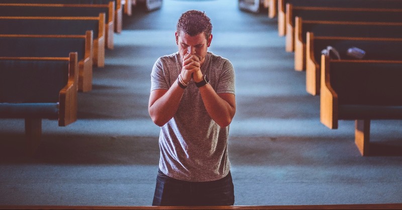
M375 37L316 37L307 33L306 91L312 95L320 94L321 51L327 46L337 49L342 59L352 59L346 55L347 49L357 47L366 51L363 58L372 60L402 60L401 38Z

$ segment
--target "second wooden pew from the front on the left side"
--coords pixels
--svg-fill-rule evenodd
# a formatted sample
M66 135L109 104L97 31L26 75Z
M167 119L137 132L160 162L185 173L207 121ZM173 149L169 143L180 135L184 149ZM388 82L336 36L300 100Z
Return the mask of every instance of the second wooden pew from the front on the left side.
M77 88L92 89L92 31L86 35L0 35L0 57L66 57L77 52Z

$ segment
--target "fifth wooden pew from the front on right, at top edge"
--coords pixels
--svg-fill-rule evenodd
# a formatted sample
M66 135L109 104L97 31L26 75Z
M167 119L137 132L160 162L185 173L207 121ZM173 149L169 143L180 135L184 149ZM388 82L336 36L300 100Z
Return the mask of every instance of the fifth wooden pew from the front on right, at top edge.
M286 34L286 4L294 7L402 9L402 2L399 0L272 0L269 17L276 17L277 12L279 36Z

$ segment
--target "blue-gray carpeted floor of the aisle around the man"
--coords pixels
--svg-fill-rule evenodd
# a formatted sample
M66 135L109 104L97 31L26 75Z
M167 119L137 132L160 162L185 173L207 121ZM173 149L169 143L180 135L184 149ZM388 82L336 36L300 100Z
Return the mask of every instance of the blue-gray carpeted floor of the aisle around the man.
M161 10L124 17L93 90L78 94L78 121L43 120L34 157L22 150L24 121L0 120L0 205L151 205L159 127L147 111L150 71L177 51L175 24L189 9L211 17L210 51L236 71L235 205L402 202L401 121L372 121L371 155L361 157L354 122L320 123L319 96L293 70L276 19L239 11L235 0L164 0Z

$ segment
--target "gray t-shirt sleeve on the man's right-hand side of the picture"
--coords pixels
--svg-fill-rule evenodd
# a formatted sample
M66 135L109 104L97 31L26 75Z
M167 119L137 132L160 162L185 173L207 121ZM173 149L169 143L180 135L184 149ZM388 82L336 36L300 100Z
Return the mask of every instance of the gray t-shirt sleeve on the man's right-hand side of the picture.
M222 74L219 77L217 93L235 94L235 69L229 60L222 65Z

